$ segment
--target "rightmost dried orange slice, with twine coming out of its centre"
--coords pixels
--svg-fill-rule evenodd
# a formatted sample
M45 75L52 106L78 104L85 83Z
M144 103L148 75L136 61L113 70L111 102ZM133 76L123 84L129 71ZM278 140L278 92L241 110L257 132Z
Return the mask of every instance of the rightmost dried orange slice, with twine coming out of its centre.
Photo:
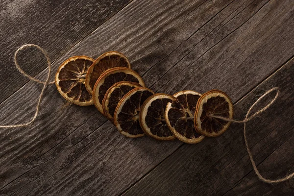
M213 116L233 119L233 115L233 103L224 92L219 90L208 91L197 102L194 115L196 130L204 136L217 137L225 132L231 122Z

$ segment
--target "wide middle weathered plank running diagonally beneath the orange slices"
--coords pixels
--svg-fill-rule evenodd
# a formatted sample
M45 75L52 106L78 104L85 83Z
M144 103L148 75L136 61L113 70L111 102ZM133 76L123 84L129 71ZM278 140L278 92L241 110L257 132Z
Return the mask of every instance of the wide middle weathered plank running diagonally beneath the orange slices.
M198 85L189 89L202 93L218 87L237 101L293 55L291 3L135 0L57 59L53 68L72 55L97 57L115 49L130 58L155 90L183 90L180 84L169 90L173 82L164 84L167 76L198 67L182 77L185 81L179 76L176 80L184 85L197 79ZM202 84L203 76L217 83ZM1 103L0 121L27 121L39 90L28 82ZM182 145L125 138L94 107L61 108L63 103L51 86L33 126L0 130L0 194L118 195Z

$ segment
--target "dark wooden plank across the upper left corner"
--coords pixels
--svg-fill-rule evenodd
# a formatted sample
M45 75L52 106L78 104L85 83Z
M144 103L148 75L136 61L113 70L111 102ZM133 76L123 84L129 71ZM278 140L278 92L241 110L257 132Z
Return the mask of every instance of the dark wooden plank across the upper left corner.
M0 3L0 102L28 79L14 67L15 50L24 44L37 44L54 61L99 25L121 10L129 0L4 0ZM44 70L42 54L32 49L31 56L20 53L24 69L31 75ZM32 58L32 56L34 58Z

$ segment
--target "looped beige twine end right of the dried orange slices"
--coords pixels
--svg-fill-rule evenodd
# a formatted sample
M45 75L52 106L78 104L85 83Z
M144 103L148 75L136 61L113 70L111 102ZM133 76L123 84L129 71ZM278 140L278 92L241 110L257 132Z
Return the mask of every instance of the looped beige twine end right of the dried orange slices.
M271 92L273 91L276 91L276 95L275 97L270 101L270 103L268 103L265 107L263 107L262 109L258 110L256 113L254 113L253 115L249 116L251 110L254 108L254 106L259 103L265 96L267 96L268 94L270 94ZM245 145L246 145L246 150L247 150L247 153L249 155L249 158L250 158L250 161L251 161L251 164L252 164L252 167L253 167L253 170L254 172L256 173L256 175L259 177L260 180L262 180L263 182L266 182L266 183L269 183L269 184L274 184L274 183L279 183L279 182L283 182L283 181L286 181L286 180L289 180L290 178L293 178L294 177L294 172L292 172L291 174L289 175L286 175L285 177L282 177L282 178L278 178L278 179L275 179L275 180L272 180L272 179L268 179L268 178L265 178L263 177L260 172L258 171L257 167L256 167L256 163L253 159L253 156L252 156L252 153L251 153L251 150L249 148L249 145L248 145L248 142L247 142L247 137L246 137L246 122L252 120L253 118L255 118L256 116L258 116L259 114L261 114L262 112L266 111L272 104L274 101L276 101L276 99L278 98L279 96L279 88L278 87L274 87L272 89L270 89L269 91L267 91L264 95L262 95L260 98L258 98L252 105L251 107L249 108L246 116L245 116L245 119L242 120L242 121L238 121L238 120L233 120L233 119L229 119L229 118L224 118L224 117L221 117L221 116L214 116L214 115L211 115L210 117L213 117L213 118L217 118L217 119L221 119L223 121L227 121L227 122L232 122L232 123L244 123L244 140L245 140Z

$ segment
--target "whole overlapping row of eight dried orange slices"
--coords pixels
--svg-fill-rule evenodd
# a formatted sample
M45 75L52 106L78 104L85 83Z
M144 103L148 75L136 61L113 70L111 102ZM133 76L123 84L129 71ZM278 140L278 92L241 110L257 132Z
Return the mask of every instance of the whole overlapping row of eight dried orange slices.
M187 90L173 96L154 94L142 77L131 69L127 57L109 51L94 60L74 56L55 75L59 93L68 101L87 106L95 104L125 136L147 134L158 140L195 144L221 135L230 122L214 116L233 118L231 99L219 90L203 95Z

